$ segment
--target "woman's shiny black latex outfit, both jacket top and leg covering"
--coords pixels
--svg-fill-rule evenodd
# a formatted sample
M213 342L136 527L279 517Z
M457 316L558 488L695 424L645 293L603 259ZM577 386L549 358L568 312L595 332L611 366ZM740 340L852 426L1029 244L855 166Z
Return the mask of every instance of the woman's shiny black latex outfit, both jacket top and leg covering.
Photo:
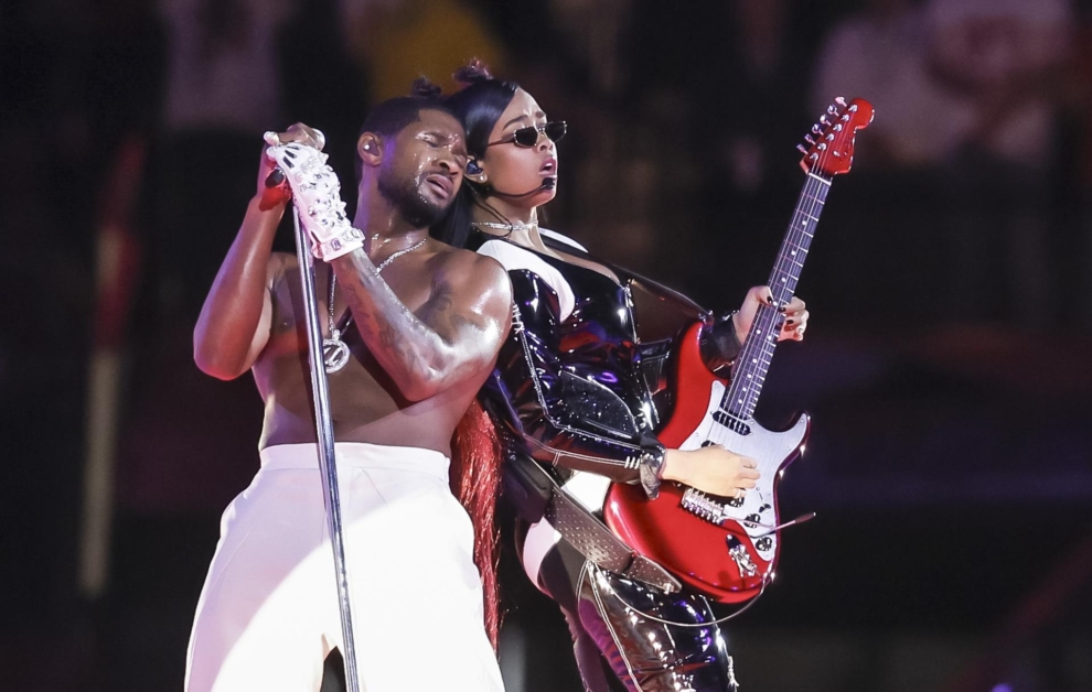
M486 241L503 242L475 233L470 248ZM619 273L619 284L596 270L535 256L556 269L571 291L571 313L561 318L559 290L546 278L506 267L513 329L483 390L483 403L503 421L508 454L531 455L558 480L591 472L638 483L643 453L663 450L653 432L652 389L660 380L664 349L638 338L633 278ZM696 306L694 312L710 326L703 343L707 363L716 367L734 358L738 343L730 321L711 320ZM521 516L536 520L523 511ZM522 543L526 525L521 529ZM543 559L537 583L565 614L586 690L617 686L608 682L610 677L630 691L736 690L732 660L717 625L678 627L641 614L702 625L715 619L705 598L668 595L607 572L564 538Z

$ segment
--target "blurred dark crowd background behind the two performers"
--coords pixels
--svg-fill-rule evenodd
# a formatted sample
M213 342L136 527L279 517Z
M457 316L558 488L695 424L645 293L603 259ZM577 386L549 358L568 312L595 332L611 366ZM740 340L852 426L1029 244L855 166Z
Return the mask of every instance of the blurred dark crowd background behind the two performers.
M472 55L569 121L549 226L718 310L767 278L795 144L872 101L758 415L813 415L782 510L818 518L728 625L738 678L1092 690L1089 0L7 0L0 686L181 689L257 469L254 385L191 334L260 134L320 127L349 181L368 105ZM578 690L505 551L508 689Z

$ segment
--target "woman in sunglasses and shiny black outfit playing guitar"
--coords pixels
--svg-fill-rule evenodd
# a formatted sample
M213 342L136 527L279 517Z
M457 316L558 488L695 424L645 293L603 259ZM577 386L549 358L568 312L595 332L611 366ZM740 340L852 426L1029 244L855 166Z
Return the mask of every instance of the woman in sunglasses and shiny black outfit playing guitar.
M556 194L554 143L565 123L547 120L527 91L480 63L456 77L465 87L448 104L473 159L441 233L495 258L512 279L514 328L482 401L503 423L505 487L522 518L527 574L561 607L587 690L606 692L611 675L631 691L735 690L708 603L656 565L631 562L601 510L611 483L640 484L655 497L662 480L674 480L740 499L759 478L753 459L722 446L684 452L656 439L652 392L670 347L640 343L631 288L651 286L705 322L702 356L710 369L730 365L772 294L757 286L739 311L713 317L539 228L537 209ZM801 339L804 303L793 299L781 310L779 340Z

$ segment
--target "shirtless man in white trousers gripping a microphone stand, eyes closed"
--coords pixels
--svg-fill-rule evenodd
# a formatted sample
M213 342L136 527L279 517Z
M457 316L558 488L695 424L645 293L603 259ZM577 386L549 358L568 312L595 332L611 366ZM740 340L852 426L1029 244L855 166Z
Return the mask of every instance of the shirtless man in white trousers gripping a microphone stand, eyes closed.
M328 348L326 369L362 685L501 690L448 457L506 335L511 289L500 264L427 230L462 183L462 127L430 97L379 105L357 141L352 226L314 147L321 136L293 126L278 137L194 331L202 370L254 372L265 424L261 468L224 515L197 603L185 689L318 690L341 642L300 267L271 252L289 194L265 181L279 165L325 260L315 267L319 313L332 315L323 337L352 316L340 336L351 355L335 369L338 347ZM439 646L426 650L424 638Z

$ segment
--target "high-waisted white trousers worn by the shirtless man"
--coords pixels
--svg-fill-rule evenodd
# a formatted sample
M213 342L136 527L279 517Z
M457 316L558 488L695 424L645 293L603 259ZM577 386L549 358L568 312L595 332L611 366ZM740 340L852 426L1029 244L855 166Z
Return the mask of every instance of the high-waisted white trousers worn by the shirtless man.
M318 690L342 641L313 444L261 452L228 506L186 657L188 692ZM470 517L431 450L336 445L360 680L367 692L500 691Z

